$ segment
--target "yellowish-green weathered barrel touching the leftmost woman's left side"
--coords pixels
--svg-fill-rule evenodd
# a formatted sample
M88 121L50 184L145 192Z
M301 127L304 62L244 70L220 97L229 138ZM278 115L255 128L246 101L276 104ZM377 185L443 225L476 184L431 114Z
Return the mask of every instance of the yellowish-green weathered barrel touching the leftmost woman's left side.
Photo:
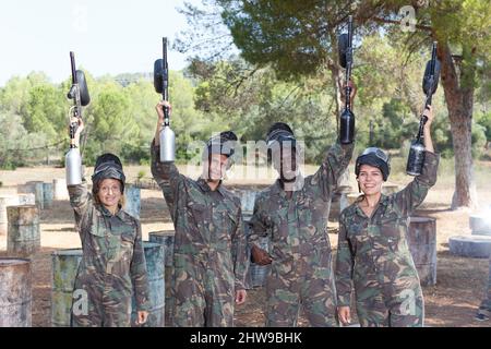
M51 253L51 326L70 327L73 288L82 249Z

